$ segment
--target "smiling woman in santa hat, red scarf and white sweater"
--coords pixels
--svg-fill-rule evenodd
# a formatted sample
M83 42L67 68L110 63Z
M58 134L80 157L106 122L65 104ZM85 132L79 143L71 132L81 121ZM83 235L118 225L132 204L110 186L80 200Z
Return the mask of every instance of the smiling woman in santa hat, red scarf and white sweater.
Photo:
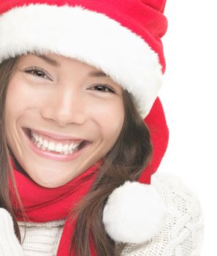
M168 143L164 5L0 4L0 255L199 254L197 197L151 179Z

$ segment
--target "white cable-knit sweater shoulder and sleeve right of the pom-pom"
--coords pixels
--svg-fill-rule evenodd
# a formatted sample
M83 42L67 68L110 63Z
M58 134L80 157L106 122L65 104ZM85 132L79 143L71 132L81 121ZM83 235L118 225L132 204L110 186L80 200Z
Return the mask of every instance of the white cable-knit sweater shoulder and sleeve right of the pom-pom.
M170 173L155 173L152 184L167 203L166 225L144 244L126 244L121 256L199 256L204 215L197 195Z

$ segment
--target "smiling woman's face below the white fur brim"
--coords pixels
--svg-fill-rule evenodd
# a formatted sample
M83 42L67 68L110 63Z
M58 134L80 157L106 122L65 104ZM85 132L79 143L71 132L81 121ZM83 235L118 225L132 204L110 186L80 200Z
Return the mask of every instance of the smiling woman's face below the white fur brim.
M123 95L121 86L95 67L44 56L58 64L34 54L19 59L7 88L6 138L28 176L43 187L60 187L113 147L123 127ZM77 148L83 140L88 144Z

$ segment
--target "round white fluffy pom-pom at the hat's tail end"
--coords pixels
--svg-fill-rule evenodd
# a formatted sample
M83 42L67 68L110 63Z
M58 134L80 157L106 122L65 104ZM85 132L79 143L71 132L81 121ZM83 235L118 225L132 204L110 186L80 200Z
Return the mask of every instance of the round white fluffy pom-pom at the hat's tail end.
M126 181L104 206L104 228L110 238L140 244L156 236L167 219L167 206L151 184Z

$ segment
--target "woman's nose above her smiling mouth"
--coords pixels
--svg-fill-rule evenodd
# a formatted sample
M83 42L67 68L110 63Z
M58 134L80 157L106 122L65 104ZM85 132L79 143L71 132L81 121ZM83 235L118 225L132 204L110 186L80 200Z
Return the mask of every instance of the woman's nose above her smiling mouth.
M83 99L72 89L56 91L56 94L45 102L41 115L55 121L60 127L70 123L84 124L86 120Z

